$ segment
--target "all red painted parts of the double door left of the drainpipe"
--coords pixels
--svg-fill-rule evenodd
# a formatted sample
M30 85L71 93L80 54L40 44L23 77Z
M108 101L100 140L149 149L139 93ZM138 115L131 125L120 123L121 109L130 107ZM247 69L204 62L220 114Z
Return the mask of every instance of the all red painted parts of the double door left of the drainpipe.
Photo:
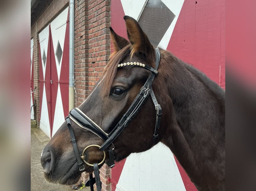
M69 18L69 14L68 14L68 18ZM52 137L58 86L60 86L64 116L67 116L69 112L69 22L68 21L67 21L67 28L66 28L66 34L65 34L66 35L65 42L63 47L63 54L62 54L60 80L58 79L58 74L57 74L55 52L53 48L50 25L49 25L47 58L46 58L44 78L43 78L43 69L42 69L42 55L40 52L40 44L39 44L40 114L41 114L41 105L42 105L42 96L43 96L43 86L45 86L46 104L48 108L48 118L49 118L49 124L50 124L50 137Z

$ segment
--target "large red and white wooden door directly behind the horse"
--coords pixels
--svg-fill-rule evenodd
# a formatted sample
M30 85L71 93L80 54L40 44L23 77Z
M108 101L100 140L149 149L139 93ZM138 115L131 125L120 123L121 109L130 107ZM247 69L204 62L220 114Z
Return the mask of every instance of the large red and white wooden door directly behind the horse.
M127 37L123 16L137 19L152 44L193 64L225 88L224 10L223 0L112 0L111 26ZM110 181L112 191L196 190L162 143L119 162Z

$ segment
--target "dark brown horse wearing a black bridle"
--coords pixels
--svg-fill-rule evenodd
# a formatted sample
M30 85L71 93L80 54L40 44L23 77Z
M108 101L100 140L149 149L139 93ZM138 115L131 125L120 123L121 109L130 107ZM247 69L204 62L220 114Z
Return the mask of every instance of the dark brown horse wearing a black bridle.
M199 191L225 190L225 91L154 48L135 19L124 20L129 41L110 27L113 53L91 94L45 146L44 177L75 184L84 171L97 174L105 162L113 167L162 142Z

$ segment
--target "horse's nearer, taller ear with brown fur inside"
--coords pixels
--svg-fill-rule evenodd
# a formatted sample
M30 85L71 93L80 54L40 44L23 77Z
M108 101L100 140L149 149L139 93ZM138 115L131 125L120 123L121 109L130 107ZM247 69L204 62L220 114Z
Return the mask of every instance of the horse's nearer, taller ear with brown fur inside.
M146 57L154 54L154 47L148 40L147 35L142 31L139 23L129 16L124 16L127 35L132 44L131 56L136 52L145 54Z

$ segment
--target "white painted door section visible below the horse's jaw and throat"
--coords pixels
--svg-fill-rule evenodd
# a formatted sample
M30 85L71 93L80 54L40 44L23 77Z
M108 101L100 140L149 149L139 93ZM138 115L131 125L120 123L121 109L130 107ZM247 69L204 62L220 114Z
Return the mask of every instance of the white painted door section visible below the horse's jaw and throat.
M173 154L162 143L127 157L116 187L117 191L185 191Z

